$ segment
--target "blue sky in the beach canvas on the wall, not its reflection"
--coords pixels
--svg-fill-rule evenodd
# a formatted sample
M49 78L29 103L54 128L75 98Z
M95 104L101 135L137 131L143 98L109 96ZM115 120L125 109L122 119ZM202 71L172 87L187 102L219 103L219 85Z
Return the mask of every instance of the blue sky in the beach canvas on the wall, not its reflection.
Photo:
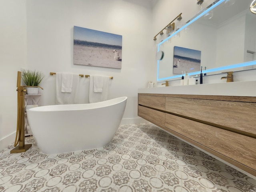
M122 46L122 35L74 26L74 39Z

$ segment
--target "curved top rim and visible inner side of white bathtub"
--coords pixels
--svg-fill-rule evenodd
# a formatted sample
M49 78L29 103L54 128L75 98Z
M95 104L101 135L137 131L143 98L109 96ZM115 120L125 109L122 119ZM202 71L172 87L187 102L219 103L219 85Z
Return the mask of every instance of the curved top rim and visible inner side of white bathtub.
M115 102L115 101L118 102ZM26 111L33 112L50 112L50 111L75 111L75 110L91 110L97 108L104 108L112 105L116 105L127 100L126 96L118 97L106 101L96 102L96 103L85 103L85 104L61 104L61 105L47 105L30 108ZM108 104L109 103L109 104Z

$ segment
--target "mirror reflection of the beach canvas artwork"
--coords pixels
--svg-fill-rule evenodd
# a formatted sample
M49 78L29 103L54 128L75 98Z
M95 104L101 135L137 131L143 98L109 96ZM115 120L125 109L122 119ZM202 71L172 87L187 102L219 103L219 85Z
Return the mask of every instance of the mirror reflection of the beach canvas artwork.
M200 71L201 51L174 46L173 74Z

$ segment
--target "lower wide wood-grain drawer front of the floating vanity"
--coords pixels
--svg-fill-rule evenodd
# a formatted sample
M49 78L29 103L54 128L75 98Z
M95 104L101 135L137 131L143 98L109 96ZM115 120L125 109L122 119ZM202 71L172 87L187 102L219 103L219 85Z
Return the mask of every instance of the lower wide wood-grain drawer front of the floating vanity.
M255 175L255 138L172 114L166 114L165 126L184 140Z

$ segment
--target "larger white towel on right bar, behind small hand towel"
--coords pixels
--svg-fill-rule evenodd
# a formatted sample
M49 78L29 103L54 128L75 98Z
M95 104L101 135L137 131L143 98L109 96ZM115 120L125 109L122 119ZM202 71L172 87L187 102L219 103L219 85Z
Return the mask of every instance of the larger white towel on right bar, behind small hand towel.
M109 76L102 76L102 92L94 92L94 75L90 75L89 103L96 103L108 100Z

